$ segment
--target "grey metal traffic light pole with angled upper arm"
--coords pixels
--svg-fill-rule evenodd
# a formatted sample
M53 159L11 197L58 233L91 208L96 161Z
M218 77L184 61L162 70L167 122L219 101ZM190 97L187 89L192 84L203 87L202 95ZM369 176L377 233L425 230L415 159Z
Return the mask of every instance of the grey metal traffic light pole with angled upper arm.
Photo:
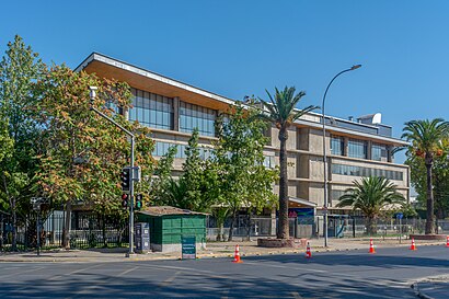
M133 133L124 128L120 124L116 123L114 119L102 113L101 111L96 110L93 105L92 102L95 100L96 95L96 88L90 87L90 95L91 95L91 111L95 112L103 118L107 119L110 123L112 123L114 126L119 128L122 131L124 131L126 135L128 135L131 138L131 154L130 154L130 168L131 168L131 180L130 180L130 185L129 185L129 251L126 254L126 256L131 256L134 254L134 149L135 149L135 136Z

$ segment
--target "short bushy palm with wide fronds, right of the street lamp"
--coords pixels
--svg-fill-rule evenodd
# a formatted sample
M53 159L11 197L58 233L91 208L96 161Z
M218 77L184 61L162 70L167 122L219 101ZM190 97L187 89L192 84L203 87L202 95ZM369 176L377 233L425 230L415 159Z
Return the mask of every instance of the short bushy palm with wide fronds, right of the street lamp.
M396 191L396 185L385 177L364 177L361 182L354 181L353 183L355 187L345 191L336 207L352 206L353 210L361 210L368 218L368 234L376 233L376 218L382 209L391 205L405 204L405 198Z

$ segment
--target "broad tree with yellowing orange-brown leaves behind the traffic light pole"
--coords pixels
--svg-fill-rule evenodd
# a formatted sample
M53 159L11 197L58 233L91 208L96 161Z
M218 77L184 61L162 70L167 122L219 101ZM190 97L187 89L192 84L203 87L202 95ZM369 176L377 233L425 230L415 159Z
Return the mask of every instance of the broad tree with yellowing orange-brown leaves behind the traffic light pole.
M122 210L119 173L129 165L127 136L90 111L91 85L97 87L100 94L93 105L137 135L136 164L141 166L143 177L152 174L153 141L148 137L149 129L108 108L129 108L129 87L83 71L73 72L65 66L53 67L39 83L39 120L46 151L39 157L36 179L47 197L65 205L65 248L70 246L73 204L89 204L102 215Z

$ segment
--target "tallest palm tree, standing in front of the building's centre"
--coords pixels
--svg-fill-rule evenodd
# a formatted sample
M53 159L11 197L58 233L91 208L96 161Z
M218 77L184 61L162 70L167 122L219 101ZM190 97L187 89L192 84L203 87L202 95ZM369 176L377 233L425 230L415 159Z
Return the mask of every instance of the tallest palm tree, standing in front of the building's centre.
M262 104L266 108L267 113L261 115L279 129L279 141L280 141L280 152L279 152L279 226L277 229L278 239L288 239L288 177L287 177L287 139L288 139L288 127L297 120L299 117L306 113L318 108L316 106L308 106L303 110L296 110L295 106L299 103L302 96L306 95L303 91L295 94L296 89L285 88L279 91L275 89L276 93L274 96L266 93L269 97L269 103L261 99Z

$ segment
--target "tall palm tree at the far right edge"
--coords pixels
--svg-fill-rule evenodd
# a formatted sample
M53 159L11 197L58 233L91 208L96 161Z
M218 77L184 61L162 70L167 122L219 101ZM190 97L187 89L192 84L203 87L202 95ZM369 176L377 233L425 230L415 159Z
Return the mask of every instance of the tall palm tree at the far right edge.
M434 216L434 185L431 182L431 168L434 157L442 154L441 143L449 138L449 123L442 118L433 120L411 120L405 123L402 138L411 142L408 154L424 159L427 170L427 219L426 234L435 231Z

